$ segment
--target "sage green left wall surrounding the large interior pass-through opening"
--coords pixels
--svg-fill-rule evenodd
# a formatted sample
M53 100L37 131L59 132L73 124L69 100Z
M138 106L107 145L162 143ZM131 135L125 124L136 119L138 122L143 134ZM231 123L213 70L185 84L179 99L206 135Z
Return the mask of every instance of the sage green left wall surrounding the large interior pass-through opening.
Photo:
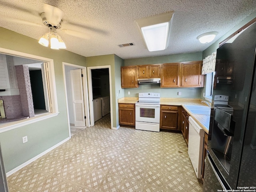
M54 60L59 114L28 126L0 133L2 155L6 172L34 158L68 138L68 120L64 91L62 62L86 66L86 58L67 50L52 50L38 44L38 40L0 27L0 47ZM22 144L22 137L28 142Z

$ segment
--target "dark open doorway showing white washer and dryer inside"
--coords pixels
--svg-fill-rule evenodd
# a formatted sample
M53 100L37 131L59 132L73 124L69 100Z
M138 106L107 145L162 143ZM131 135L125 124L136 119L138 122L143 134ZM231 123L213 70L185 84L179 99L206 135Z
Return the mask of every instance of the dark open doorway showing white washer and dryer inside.
M94 66L87 69L90 124L94 126L96 120L110 115L110 124L113 128L111 66Z

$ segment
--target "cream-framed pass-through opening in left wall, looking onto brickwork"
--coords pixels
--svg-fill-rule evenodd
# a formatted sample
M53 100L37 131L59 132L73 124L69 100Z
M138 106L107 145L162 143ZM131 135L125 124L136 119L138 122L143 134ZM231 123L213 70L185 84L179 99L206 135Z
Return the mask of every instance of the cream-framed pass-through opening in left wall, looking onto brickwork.
M56 116L53 60L0 48L0 132ZM2 78L1 78L2 77Z

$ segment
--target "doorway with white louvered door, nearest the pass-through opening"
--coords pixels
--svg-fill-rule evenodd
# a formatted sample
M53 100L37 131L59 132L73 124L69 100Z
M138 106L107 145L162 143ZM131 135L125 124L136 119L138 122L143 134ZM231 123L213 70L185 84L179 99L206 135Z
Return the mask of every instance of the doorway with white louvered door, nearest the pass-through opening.
M86 67L63 62L69 136L90 127Z

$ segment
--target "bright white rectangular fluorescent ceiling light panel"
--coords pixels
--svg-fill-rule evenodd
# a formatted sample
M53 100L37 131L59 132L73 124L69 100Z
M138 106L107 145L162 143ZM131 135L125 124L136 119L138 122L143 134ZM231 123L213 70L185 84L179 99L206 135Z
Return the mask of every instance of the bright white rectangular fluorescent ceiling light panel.
M144 41L149 51L165 50L168 39L169 22L142 27Z

